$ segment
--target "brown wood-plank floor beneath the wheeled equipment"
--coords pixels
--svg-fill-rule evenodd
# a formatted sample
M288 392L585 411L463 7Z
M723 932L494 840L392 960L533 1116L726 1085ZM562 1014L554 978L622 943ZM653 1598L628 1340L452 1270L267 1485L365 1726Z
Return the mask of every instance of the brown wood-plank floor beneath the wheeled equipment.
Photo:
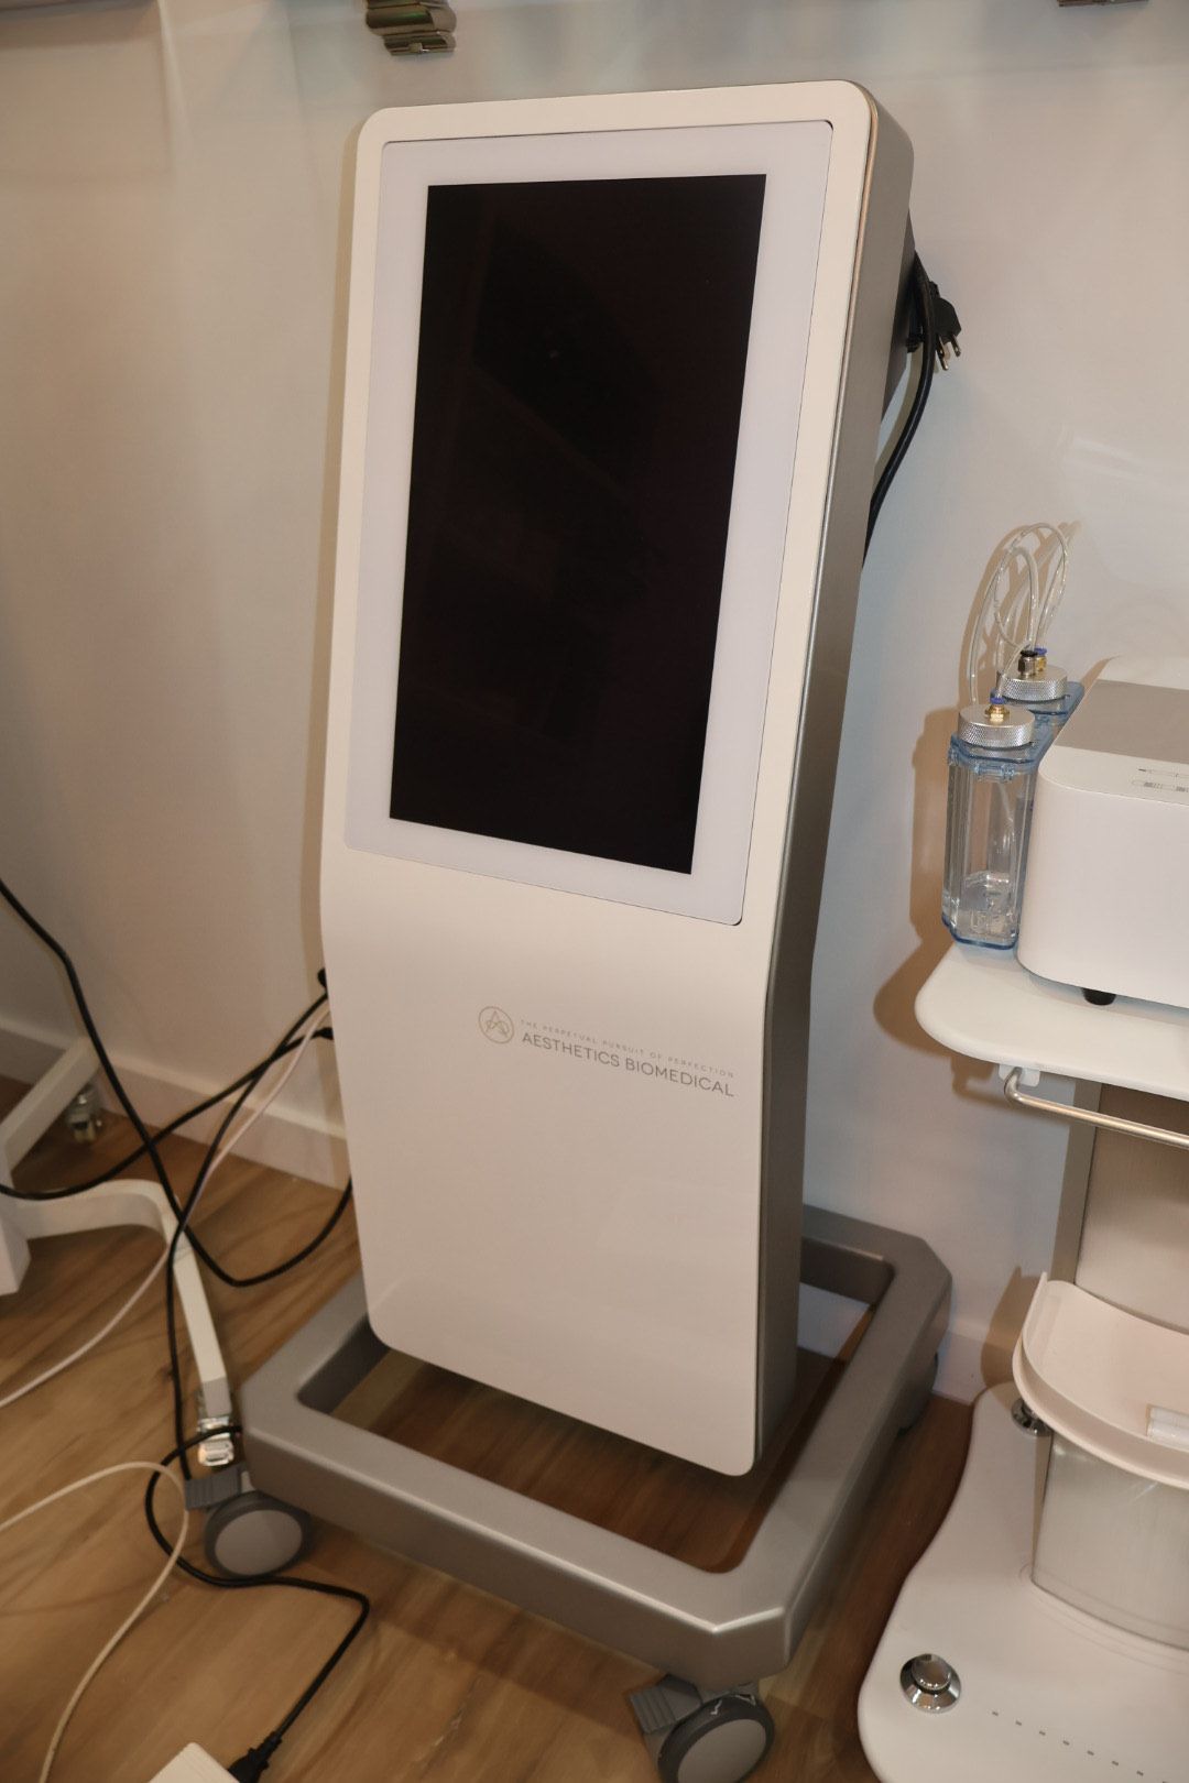
M0 1107L14 1100L0 1086ZM18 1182L48 1187L116 1161L123 1123L86 1152L50 1136ZM178 1184L198 1155L169 1141ZM200 1230L242 1271L296 1248L328 1211L326 1189L232 1163L212 1182ZM34 1246L20 1294L0 1300L0 1393L111 1314L157 1253L148 1234L87 1234ZM210 1284L232 1376L242 1380L357 1268L348 1221L299 1271L234 1293ZM116 1460L171 1446L162 1293L91 1357L4 1412L0 1516ZM829 1371L806 1371L806 1394ZM699 1565L731 1565L765 1491L617 1446L453 1376L410 1373L362 1393L349 1416L399 1428L460 1466L517 1480L579 1514L615 1516L638 1539ZM832 1582L793 1664L767 1683L779 1742L765 1783L873 1783L856 1694L900 1580L941 1519L966 1451L964 1407L934 1400L900 1437L865 1533ZM595 1450L590 1442L595 1442ZM795 1441L795 1435L790 1437ZM103 1482L0 1537L0 1778L34 1783L70 1689L146 1590L159 1553L130 1478ZM162 1507L166 1494L160 1498ZM626 1512L624 1507L635 1507ZM633 1521L635 1519L635 1521ZM269 1783L647 1783L629 1690L654 1674L549 1623L324 1528L310 1576L358 1585L373 1621L301 1717ZM78 1708L55 1783L146 1783L196 1740L228 1763L283 1715L346 1626L335 1601L278 1590L217 1592L175 1580L107 1662Z

